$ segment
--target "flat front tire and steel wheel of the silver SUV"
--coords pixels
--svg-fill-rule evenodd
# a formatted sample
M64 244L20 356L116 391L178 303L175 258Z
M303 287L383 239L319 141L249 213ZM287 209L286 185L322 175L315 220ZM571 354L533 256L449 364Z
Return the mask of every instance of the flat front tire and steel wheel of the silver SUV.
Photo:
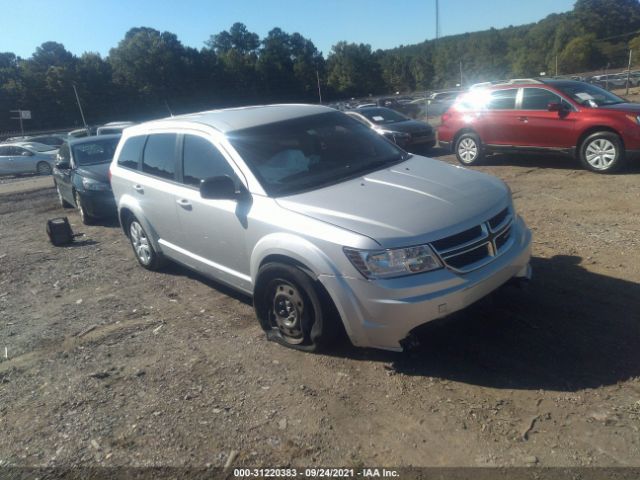
M300 268L267 263L258 272L254 308L267 338L306 352L325 350L336 337L335 307Z

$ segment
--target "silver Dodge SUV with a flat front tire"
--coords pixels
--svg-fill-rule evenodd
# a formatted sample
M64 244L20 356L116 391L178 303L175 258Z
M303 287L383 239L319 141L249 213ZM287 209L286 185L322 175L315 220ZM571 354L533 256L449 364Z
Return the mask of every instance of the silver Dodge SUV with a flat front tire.
M110 168L138 262L253 296L268 338L402 350L412 330L514 277L531 233L499 179L414 156L313 105L127 128Z

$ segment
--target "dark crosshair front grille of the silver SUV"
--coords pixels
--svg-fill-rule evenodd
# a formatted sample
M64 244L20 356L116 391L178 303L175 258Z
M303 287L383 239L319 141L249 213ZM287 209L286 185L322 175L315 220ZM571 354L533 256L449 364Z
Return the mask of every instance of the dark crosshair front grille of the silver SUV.
M467 273L493 261L511 245L513 216L508 208L473 228L431 243L447 267Z

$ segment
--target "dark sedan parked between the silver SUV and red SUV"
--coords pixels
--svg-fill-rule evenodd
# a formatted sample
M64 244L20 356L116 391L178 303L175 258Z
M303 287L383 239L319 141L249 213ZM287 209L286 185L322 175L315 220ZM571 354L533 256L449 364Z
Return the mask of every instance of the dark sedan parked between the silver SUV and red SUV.
M407 149L417 145L431 148L436 144L435 131L431 125L412 120L395 110L384 107L366 107L345 113L401 148Z

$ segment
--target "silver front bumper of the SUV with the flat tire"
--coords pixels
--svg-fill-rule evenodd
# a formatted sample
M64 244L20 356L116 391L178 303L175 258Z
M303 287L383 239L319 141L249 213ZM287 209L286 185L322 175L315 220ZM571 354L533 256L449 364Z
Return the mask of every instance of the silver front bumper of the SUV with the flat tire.
M401 351L411 330L461 310L514 277L529 277L531 232L519 217L516 241L488 265L467 274L443 268L390 280L320 275L351 342Z

